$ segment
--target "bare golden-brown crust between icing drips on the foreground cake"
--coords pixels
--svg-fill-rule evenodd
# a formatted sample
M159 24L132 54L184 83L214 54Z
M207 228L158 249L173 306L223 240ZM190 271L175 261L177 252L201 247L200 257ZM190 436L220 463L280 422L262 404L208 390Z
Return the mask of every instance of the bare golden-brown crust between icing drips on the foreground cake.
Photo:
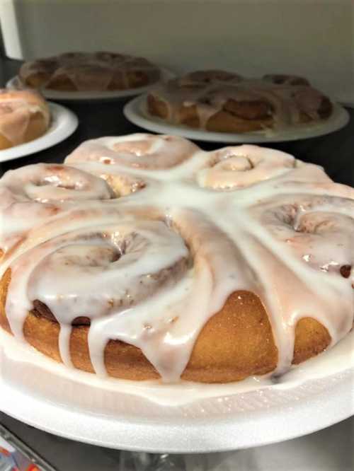
M0 282L0 326L11 332L5 313L10 269ZM61 361L58 346L59 324L38 310L28 313L23 332L27 341L43 354ZM88 325L74 325L70 339L76 368L93 372L89 356ZM298 364L328 347L329 332L313 318L303 318L295 330L293 363ZM249 291L232 293L222 310L203 327L182 375L185 380L227 383L247 376L273 371L278 351L268 315L259 298ZM159 378L142 351L124 342L110 340L105 348L105 366L115 378L148 380Z

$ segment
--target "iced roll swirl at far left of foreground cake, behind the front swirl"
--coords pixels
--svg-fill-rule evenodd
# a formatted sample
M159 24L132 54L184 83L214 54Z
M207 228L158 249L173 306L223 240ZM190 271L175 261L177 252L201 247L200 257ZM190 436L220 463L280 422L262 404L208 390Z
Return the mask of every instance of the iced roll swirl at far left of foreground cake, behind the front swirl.
M41 221L72 204L114 196L104 180L62 164L37 163L9 170L0 183L0 249L6 252ZM28 217L30 214L30 217Z

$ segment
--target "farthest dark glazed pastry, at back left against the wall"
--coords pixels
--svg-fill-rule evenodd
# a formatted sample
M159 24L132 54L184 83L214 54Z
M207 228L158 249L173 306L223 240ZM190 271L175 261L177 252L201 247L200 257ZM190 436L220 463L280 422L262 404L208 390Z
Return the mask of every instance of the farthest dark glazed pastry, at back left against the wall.
M67 52L25 62L21 82L57 91L116 91L158 81L160 70L142 57L114 52Z

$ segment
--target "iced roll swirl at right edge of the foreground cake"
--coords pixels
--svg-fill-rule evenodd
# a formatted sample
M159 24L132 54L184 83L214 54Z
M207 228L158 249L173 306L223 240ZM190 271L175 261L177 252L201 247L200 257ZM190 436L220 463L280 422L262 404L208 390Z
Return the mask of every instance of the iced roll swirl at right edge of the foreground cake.
M344 190L344 188L343 188ZM256 210L265 227L308 267L354 280L354 199L309 195L282 197ZM354 194L352 192L352 197Z

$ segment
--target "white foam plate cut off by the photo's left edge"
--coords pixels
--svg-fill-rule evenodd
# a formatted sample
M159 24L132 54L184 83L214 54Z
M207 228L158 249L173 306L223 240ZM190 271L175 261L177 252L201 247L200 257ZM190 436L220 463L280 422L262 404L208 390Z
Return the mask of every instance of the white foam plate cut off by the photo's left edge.
M75 131L79 121L72 111L62 105L57 105L57 103L48 102L48 105L51 122L47 132L38 139L0 151L0 162L11 161L14 158L28 156L31 153L52 147L67 139Z

